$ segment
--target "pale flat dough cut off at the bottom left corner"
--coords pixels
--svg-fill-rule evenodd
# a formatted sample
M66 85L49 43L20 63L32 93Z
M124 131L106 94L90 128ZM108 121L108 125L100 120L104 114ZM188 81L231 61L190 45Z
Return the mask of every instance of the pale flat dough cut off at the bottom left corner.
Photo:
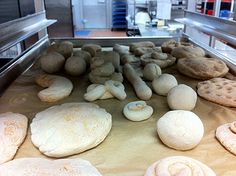
M20 158L0 165L1 176L102 176L83 159Z

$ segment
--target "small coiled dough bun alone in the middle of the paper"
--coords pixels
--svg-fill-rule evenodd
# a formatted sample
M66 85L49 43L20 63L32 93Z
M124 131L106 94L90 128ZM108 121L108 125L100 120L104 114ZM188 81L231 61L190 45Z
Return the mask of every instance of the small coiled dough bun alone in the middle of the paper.
M125 105L123 114L131 121L143 121L151 117L153 108L145 101L133 101Z

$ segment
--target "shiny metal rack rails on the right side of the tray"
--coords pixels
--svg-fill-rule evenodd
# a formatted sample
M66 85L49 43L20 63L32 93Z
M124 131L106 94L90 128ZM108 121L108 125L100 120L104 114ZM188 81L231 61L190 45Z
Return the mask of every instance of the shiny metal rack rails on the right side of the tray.
M229 21L190 11L185 11L184 18L176 19L176 21L185 24L185 32L183 33L184 37L212 53L213 56L224 60L226 63L228 63L228 66L231 68L231 70L236 73L236 61L217 51L214 48L213 42L217 38L236 48L235 21ZM203 42L197 41L194 36L191 36L186 32L188 28L193 28L203 32L204 34L207 34L210 37L209 43L205 44Z

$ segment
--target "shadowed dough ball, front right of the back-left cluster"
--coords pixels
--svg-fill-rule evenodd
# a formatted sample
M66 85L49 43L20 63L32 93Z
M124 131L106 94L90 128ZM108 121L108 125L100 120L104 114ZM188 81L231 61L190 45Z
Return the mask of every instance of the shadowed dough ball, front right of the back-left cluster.
M86 62L79 56L71 56L66 60L65 70L72 76L79 76L86 71Z

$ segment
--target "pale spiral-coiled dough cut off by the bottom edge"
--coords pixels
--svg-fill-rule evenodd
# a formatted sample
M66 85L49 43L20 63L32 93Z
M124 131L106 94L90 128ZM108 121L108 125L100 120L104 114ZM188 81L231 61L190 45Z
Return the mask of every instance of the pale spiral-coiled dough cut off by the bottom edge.
M144 176L216 176L216 174L198 160L185 156L171 156L153 163Z

